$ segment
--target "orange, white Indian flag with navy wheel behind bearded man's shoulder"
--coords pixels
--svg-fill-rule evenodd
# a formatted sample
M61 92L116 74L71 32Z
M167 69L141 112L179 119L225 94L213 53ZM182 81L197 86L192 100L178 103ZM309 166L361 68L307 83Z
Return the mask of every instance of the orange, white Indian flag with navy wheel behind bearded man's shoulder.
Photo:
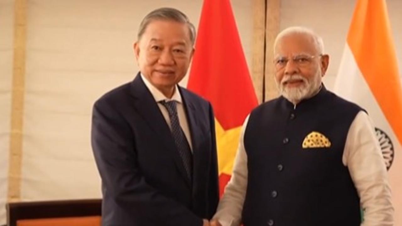
M335 92L367 110L386 163L402 225L402 91L385 0L358 0Z

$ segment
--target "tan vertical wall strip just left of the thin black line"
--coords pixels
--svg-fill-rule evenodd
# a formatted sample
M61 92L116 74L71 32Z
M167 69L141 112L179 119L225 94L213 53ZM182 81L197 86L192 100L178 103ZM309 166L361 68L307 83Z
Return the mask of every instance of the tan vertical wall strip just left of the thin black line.
M263 101L265 54L265 0L253 0L253 36L251 78L258 103Z

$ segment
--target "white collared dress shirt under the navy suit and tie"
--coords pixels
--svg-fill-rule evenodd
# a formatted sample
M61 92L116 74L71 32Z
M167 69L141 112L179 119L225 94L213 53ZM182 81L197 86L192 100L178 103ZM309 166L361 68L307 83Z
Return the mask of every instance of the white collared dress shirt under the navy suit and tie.
M163 117L165 118L166 123L168 123L170 130L172 128L170 125L170 117L169 117L168 110L160 102L161 101L166 101L166 102L176 101L178 121L180 123L181 129L183 129L183 132L187 138L187 142L189 142L191 152L193 152L193 146L191 144L189 123L187 122L187 117L186 117L185 109L183 106L183 101L181 99L181 95L180 95L180 92L178 91L177 85L174 88L174 93L173 93L172 98L169 99L169 98L165 97L165 95L163 95L163 93L160 92L160 90L158 90L158 88L156 88L154 85L152 85L151 82L149 82L142 73L141 73L141 78L144 81L145 85L147 86L148 90L150 90L156 103L158 103L160 112L162 113Z

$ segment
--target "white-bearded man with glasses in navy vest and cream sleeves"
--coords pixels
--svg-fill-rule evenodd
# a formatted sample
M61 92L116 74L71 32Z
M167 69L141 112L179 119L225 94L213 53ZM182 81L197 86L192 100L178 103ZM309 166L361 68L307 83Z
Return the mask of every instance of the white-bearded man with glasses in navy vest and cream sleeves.
M322 39L290 27L274 47L281 97L244 122L232 179L211 225L391 226L390 186L373 124L364 109L322 84L329 63Z

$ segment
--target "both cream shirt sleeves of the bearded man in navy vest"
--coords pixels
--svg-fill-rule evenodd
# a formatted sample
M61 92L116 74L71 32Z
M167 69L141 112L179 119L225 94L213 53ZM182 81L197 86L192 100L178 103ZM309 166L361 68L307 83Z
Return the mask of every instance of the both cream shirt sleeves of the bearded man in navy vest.
M232 178L213 216L222 226L239 226L241 223L248 176L247 154L244 148L244 130L248 117L240 134ZM360 197L360 204L365 210L361 226L392 226L394 208L386 166L373 123L364 111L356 115L349 128L342 162L349 169Z

